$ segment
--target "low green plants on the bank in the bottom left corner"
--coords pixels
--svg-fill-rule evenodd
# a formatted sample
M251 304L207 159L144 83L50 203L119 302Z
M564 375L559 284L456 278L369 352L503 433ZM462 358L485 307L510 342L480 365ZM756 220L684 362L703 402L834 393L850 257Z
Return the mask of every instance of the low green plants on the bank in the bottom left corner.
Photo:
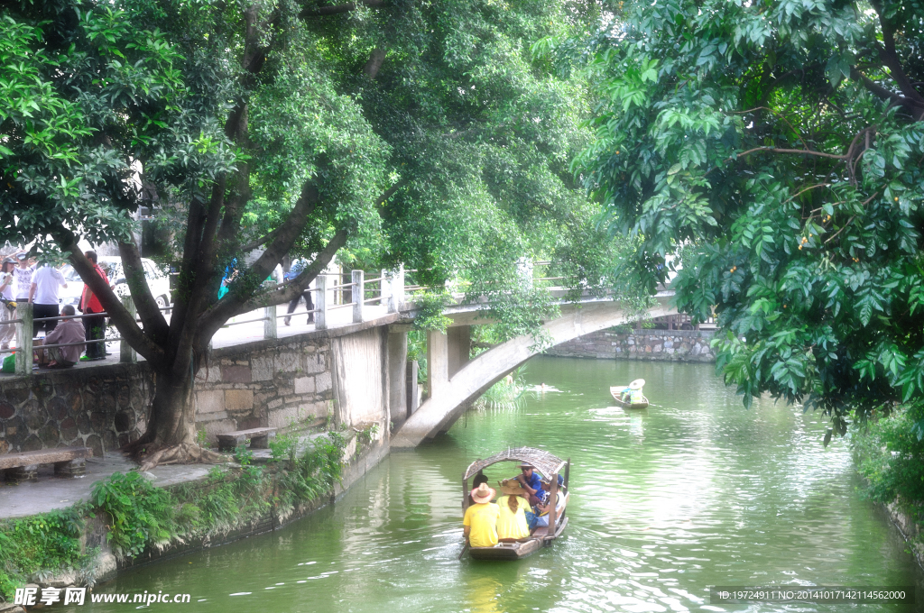
M83 522L80 508L0 522L0 596L10 600L32 573L79 568Z

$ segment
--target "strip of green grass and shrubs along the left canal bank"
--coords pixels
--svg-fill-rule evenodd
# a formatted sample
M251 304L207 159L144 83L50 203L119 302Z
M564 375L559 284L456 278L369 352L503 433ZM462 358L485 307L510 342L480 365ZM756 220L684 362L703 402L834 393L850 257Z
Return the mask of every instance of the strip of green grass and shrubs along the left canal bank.
M116 473L93 486L90 502L17 520L0 521L0 596L12 600L17 587L36 574L74 571L80 583L95 581L96 551L81 547L85 523L97 516L117 557L139 555L189 538L225 535L274 509L281 519L299 504L330 493L341 482L346 440L336 432L298 452L297 439L270 444L273 463L251 463L238 448L240 468L213 468L204 486L154 487L138 472ZM0 598L0 601L2 601Z

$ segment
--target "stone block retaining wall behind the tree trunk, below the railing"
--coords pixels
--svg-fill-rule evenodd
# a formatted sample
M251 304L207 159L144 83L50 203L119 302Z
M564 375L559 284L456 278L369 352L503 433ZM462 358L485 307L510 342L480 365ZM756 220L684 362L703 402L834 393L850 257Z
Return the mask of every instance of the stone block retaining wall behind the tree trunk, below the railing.
M386 322L388 323L388 322ZM373 324L215 349L196 376L196 427L215 435L250 427L317 426L334 415L331 339ZM138 439L154 391L147 363L106 364L0 379L0 452L86 446L93 455ZM343 407L341 418L368 413ZM387 424L387 418L385 419Z

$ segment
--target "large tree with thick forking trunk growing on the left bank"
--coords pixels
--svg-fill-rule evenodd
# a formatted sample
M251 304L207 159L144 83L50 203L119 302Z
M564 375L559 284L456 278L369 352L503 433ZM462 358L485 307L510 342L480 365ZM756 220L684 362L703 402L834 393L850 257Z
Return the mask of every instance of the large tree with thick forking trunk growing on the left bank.
M567 2L186 0L12 3L0 97L3 238L67 255L151 364L148 459L199 453L191 383L213 333L297 296L343 246L360 262L479 271L582 253L601 234L566 162L584 142L584 90L534 60L568 35ZM8 102L8 103L6 103ZM144 282L130 213L174 222L169 319ZM140 325L78 248L115 240ZM244 255L260 247L249 267ZM261 282L286 254L310 266ZM595 254L591 258L586 254ZM230 291L218 289L238 270ZM491 275L495 283L491 284ZM516 289L516 287L515 287Z

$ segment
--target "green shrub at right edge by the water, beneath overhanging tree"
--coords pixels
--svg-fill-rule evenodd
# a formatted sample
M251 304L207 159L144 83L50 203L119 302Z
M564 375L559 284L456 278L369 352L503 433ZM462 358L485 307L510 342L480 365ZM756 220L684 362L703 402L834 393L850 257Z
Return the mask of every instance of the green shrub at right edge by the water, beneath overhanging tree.
M869 483L869 498L885 504L899 499L918 522L924 521L924 439L917 433L922 420L924 404L912 403L853 433L857 470Z

